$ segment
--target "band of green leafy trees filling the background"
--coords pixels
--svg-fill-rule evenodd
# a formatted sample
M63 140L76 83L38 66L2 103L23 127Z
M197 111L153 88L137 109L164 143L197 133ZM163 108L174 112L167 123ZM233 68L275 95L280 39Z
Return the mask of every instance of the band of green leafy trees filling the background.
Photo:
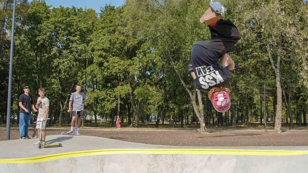
M2 0L0 30L0 97L6 100L12 0ZM306 1L221 1L241 33L230 56L240 69L227 85L232 122L264 122L264 111L279 132L282 121L297 120L307 109L308 11ZM24 85L36 97L39 87L51 100L52 123L69 122L68 99L81 84L90 98L86 115L121 119L134 127L150 117L156 127L198 122L206 131L223 119L212 109L206 93L196 91L186 72L193 43L210 38L199 18L209 7L200 0L127 0L100 11L54 8L45 1L17 1L12 117ZM264 86L266 95L264 98ZM264 107L264 99L266 107ZM6 102L0 103L6 109ZM286 110L286 111L285 111ZM5 122L5 112L1 123ZM300 117L301 121L299 121ZM306 118L306 117L305 117ZM291 121L291 122L290 122ZM13 121L14 122L14 121ZM182 124L183 126L183 124Z

